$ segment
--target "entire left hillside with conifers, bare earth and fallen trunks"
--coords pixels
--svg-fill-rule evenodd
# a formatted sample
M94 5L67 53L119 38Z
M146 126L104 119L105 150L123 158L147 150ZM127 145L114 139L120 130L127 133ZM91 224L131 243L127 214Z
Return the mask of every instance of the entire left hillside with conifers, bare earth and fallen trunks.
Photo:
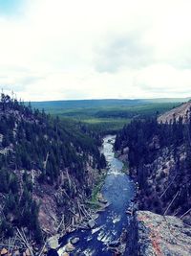
M64 123L1 94L1 239L25 228L39 244L46 234L80 221L80 205L105 168L100 143L76 122Z

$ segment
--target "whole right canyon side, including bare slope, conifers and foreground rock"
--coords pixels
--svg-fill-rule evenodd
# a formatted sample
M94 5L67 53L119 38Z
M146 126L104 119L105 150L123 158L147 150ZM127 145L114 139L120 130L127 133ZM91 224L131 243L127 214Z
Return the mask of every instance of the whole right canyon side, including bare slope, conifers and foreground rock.
M116 150L137 181L127 255L191 253L189 108L190 103L158 120L134 120L117 134Z

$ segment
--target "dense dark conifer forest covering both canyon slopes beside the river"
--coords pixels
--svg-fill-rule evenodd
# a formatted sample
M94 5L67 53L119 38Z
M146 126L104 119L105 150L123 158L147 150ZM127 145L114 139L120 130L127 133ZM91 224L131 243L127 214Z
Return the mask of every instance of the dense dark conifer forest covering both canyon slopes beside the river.
M134 209L190 223L191 111L168 123L159 123L153 111L132 116L115 142L137 181ZM89 206L106 174L103 130L51 116L3 93L0 121L1 241L23 232L40 247L95 213Z

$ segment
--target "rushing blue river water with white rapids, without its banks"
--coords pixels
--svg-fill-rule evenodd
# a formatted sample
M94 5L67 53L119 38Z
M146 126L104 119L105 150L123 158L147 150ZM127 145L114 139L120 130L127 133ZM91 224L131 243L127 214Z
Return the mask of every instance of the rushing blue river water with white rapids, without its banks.
M101 193L110 205L99 215L94 229L76 230L63 238L63 244L71 238L80 239L70 255L113 255L107 249L108 244L117 241L123 228L127 229L129 217L125 211L135 196L135 185L128 175L122 173L123 163L115 157L115 139L114 135L104 137L102 146L108 165L108 174Z

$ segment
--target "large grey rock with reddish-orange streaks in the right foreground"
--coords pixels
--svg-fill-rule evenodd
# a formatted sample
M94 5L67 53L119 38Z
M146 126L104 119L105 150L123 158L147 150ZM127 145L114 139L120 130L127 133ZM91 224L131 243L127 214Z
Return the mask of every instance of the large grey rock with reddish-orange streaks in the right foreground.
M124 255L189 256L191 227L176 217L138 211L130 223Z

